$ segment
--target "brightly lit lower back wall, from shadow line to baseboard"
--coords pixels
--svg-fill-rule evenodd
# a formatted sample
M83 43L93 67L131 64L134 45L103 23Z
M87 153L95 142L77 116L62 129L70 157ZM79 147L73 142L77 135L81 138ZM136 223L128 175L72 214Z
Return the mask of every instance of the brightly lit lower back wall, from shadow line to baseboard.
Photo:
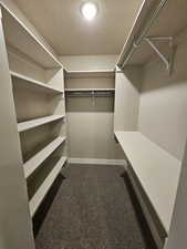
M75 158L120 159L120 145L113 135L113 113L67 113L69 156Z

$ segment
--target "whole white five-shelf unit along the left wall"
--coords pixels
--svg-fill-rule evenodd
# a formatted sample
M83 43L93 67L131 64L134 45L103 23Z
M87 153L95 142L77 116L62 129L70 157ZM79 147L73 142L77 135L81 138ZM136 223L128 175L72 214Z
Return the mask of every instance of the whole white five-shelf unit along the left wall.
M33 217L66 162L64 69L17 6L2 1L2 7L13 108Z

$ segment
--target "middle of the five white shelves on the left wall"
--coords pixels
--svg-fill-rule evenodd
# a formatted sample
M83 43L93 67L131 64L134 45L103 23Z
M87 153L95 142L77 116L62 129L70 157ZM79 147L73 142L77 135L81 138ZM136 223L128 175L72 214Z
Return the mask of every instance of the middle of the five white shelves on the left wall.
M63 117L64 117L64 115L51 115L51 116L35 118L32 121L21 122L21 123L18 123L18 132L21 133L21 132L28 131L30 128L34 128L37 126L61 120Z

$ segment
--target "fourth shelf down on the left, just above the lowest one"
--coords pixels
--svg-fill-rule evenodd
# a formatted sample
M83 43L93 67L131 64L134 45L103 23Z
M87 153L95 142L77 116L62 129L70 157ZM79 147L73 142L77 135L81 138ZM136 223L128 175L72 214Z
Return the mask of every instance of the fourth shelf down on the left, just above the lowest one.
M24 176L28 178L63 142L65 137L58 137L32 158L24 163Z

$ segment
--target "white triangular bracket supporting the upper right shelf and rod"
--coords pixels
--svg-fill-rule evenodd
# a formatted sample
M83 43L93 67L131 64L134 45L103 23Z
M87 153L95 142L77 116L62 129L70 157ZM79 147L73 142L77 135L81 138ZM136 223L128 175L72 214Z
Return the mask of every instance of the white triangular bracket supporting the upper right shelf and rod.
M174 68L174 58L176 52L176 46L174 45L174 38L173 37L147 37L144 39L150 48L157 53L157 55L162 59L162 61L165 63L166 69L168 71L168 74L170 75ZM169 54L164 54L157 43L165 43L169 48Z

